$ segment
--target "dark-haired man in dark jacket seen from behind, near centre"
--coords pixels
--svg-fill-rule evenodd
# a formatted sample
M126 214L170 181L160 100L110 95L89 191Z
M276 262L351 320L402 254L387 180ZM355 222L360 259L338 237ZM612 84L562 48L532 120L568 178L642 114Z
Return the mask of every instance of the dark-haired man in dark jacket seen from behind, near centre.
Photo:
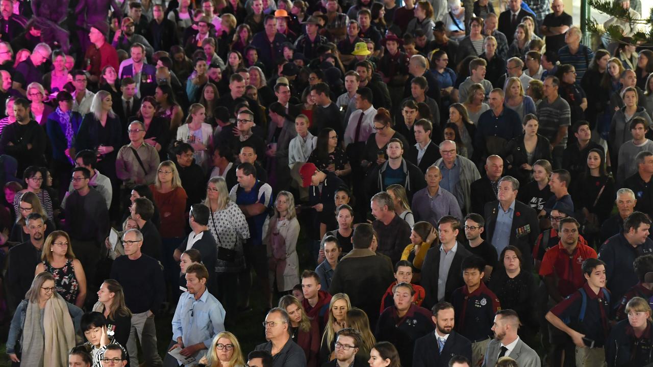
M373 233L370 224L356 227L352 238L354 248L338 263L329 288L332 295L349 295L351 306L365 311L370 325L376 324L381 298L394 279L392 265L370 249Z

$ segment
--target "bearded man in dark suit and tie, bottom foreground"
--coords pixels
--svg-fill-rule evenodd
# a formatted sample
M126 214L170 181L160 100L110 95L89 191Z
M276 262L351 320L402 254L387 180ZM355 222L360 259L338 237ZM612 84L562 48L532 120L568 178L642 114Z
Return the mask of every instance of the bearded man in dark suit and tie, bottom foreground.
M448 367L449 360L457 355L471 360L471 342L453 330L453 305L438 302L432 311L436 331L415 341L413 367Z

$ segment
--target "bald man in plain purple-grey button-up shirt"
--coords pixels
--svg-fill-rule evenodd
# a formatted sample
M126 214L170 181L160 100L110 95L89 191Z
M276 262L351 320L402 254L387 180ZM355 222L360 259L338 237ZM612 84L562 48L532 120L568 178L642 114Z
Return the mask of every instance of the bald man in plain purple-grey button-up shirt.
M462 218L458 200L452 193L440 187L442 174L440 168L431 166L426 168L424 175L426 187L413 195L413 215L415 221L427 221L437 227L438 221L445 215Z

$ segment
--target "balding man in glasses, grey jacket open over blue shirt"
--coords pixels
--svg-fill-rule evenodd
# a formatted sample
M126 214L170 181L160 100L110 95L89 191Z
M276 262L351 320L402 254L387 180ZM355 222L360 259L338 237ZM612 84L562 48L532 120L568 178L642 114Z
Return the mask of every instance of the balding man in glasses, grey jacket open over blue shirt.
M456 154L456 142L445 140L440 143L441 158L434 163L440 168L442 180L440 186L458 199L463 213L470 212L471 183L481 178L476 165L462 155Z

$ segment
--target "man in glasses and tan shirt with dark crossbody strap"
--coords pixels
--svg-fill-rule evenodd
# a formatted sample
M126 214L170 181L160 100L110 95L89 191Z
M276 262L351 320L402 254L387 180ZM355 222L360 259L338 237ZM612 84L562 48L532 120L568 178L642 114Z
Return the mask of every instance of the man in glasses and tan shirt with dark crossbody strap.
M129 144L120 148L116 158L116 176L122 180L125 187L122 197L126 197L135 185L154 183L159 167L159 152L144 141L143 123L133 121L129 124L127 133Z

